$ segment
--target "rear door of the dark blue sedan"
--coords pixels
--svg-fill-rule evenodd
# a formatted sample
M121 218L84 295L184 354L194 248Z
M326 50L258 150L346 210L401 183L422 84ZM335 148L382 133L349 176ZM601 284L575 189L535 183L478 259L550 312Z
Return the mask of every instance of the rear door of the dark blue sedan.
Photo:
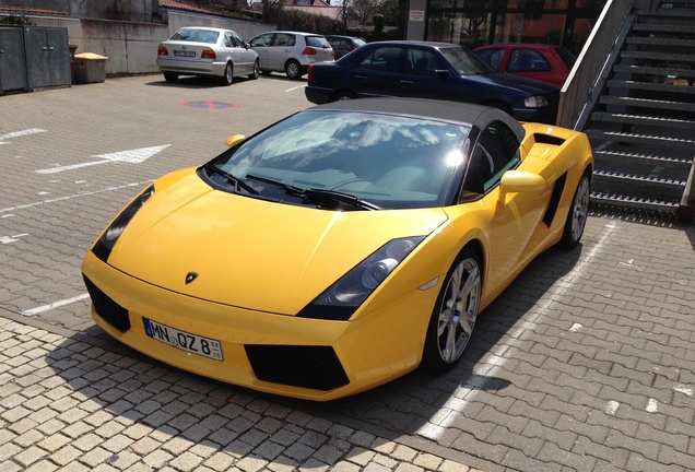
M398 96L402 48L378 46L352 64L350 87L360 97Z

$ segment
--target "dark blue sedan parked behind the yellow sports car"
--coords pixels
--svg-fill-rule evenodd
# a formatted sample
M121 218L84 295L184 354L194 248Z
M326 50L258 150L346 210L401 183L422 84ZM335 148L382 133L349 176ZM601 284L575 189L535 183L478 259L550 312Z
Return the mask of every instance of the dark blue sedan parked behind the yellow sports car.
M494 106L519 121L555 123L559 88L496 73L463 46L427 42L369 43L332 63L309 67L306 97L315 104L375 96Z

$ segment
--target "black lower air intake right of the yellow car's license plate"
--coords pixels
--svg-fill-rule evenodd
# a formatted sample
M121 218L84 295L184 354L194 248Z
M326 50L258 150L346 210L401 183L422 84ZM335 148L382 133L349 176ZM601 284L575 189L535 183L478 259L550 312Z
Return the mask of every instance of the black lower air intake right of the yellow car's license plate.
M249 344L245 347L259 380L323 391L350 384L331 346Z

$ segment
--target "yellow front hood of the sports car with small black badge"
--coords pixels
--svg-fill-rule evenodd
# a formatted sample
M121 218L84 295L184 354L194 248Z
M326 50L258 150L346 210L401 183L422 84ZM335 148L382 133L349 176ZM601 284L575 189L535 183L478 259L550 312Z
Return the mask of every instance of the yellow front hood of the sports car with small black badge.
M441 209L335 212L213 190L193 169L155 182L108 263L156 286L295 315L385 243L427 235ZM191 272L198 278L186 283Z

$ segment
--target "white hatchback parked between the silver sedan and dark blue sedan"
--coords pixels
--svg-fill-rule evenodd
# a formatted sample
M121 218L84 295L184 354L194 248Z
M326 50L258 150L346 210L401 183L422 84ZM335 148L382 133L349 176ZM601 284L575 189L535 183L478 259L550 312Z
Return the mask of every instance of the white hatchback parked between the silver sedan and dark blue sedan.
M263 33L248 42L258 52L261 72L284 72L301 79L315 62L333 62L333 48L321 35L297 32Z

